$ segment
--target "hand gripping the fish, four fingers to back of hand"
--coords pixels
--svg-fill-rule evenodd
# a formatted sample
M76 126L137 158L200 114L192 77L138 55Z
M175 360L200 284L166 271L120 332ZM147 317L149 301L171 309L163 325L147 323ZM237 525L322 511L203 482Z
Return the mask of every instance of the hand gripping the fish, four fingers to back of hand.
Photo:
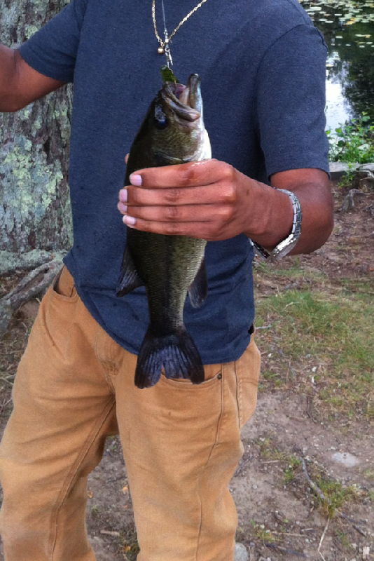
M137 230L207 241L227 239L242 227L235 219L237 208L243 206L241 176L216 160L146 168L130 175L131 184L120 191L118 210L123 222Z

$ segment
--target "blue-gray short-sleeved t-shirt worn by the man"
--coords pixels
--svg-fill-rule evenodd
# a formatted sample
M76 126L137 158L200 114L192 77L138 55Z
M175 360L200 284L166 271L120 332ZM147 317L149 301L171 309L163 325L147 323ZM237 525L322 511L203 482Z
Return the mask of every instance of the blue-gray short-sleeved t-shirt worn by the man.
M196 0L165 0L169 32ZM160 1L156 18L162 32ZM144 288L116 298L126 229L116 205L125 163L161 86L151 0L72 0L20 48L41 74L74 81L69 184L74 248L65 262L92 316L139 351ZM200 74L214 158L268 182L297 168L328 172L323 37L297 0L208 0L176 32L174 72ZM244 234L207 244L209 296L184 318L204 363L239 358L254 321L253 250Z

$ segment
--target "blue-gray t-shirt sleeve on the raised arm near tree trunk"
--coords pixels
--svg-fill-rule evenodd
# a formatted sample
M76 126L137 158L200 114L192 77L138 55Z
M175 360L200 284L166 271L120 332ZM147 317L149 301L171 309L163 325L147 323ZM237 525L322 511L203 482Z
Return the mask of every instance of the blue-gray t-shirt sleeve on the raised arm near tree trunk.
M20 47L20 55L29 66L48 78L74 81L76 55L87 1L71 0L70 4Z

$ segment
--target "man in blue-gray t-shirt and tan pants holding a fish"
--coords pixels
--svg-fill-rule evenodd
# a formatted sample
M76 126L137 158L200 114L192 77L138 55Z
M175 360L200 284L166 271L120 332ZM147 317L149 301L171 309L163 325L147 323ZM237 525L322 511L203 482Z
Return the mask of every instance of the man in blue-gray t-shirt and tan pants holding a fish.
M286 250L302 253L331 233L326 46L296 0L194 7L165 0L165 15L174 29L190 14L172 38L174 68L181 81L200 74L216 159L139 170L125 189L123 158L164 62L151 0L72 0L20 50L0 48L1 111L74 81L74 248L41 304L1 444L6 561L95 559L85 486L106 435L118 432L138 560L233 560L228 483L260 365L249 239L275 253L288 240ZM158 0L155 20L161 29ZM125 246L117 203L130 227L210 242L209 297L198 310L187 299L184 315L206 365L201 385L161 377L134 386L148 316L144 290L116 299Z

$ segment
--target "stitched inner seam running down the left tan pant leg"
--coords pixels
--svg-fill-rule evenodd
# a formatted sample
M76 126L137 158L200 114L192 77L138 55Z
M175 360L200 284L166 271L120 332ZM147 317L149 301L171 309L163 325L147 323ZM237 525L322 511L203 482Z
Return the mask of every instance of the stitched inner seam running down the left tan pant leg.
M56 546L56 541L57 541L57 520L58 520L58 515L60 512L60 508L62 507L64 500L67 497L67 493L69 492L69 489L71 488L71 483L74 480L74 477L78 471L78 468L81 466L83 459L85 459L86 455L88 454L88 451L90 450L90 447L92 446L92 442L95 441L95 438L97 437L97 434L100 431L100 428L102 428L106 418L108 417L109 413L111 412L111 410L113 409L113 406L115 405L115 399L113 397L109 398L108 403L106 403L105 407L104 407L104 411L103 411L103 415L102 418L99 420L99 422L97 424L95 424L94 428L92 429L92 431L90 432L90 434L88 435L88 437L86 438L81 453L78 454L78 457L76 459L76 461L74 462L74 464L71 466L71 469L69 470L69 473L67 474L67 477L64 480L64 483L62 484L62 489L60 492L60 495L57 497L57 501L56 501L56 506L53 509L53 512L51 514L50 517L50 541L49 541L49 546L48 546L48 555L50 555L50 560L53 561L53 553L55 552L55 546Z

